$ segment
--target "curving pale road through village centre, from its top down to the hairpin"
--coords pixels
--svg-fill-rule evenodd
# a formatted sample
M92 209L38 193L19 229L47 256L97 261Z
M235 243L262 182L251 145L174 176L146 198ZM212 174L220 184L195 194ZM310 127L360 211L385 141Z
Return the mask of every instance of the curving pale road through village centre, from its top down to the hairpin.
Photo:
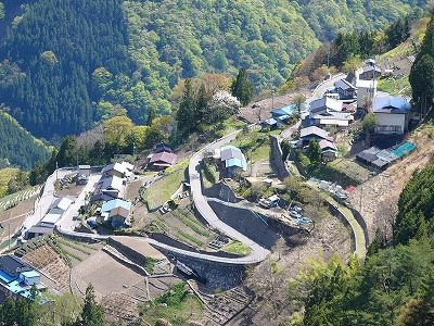
M189 176L190 176L190 187L191 193L193 197L194 205L197 212L209 223L213 227L217 228L221 233L228 235L231 238L235 238L237 240L243 242L245 246L248 246L252 249L252 253L245 258L243 258L245 264L257 263L267 258L270 253L269 250L254 242L243 234L239 233L234 228L221 222L217 214L209 206L206 198L202 193L202 184L200 177L200 162L202 160L202 153L206 150L214 150L220 148L225 143L228 143L230 140L234 139L240 130L234 131L224 138L220 138L217 141L212 142L210 145L203 148L201 151L196 152L190 160L189 164Z

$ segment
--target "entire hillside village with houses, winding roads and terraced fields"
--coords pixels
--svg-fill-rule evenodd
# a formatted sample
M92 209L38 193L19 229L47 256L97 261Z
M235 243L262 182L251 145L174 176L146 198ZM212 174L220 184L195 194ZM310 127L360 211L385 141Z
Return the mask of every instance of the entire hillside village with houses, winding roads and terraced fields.
M417 148L405 136L421 120L408 99L376 90L376 80L390 72L372 59L365 64L355 75L328 76L298 106L272 102L265 110L257 102L241 109L243 129L195 152L181 179L166 184L187 166L179 160L184 153L177 155L167 143L156 143L139 166L120 156L105 166L59 168L33 212L20 215L12 230L10 221L2 235L13 241L0 260L2 293L26 297L35 284L43 292L69 288L82 294L91 283L108 315L133 325L138 303L190 279L206 306L199 321L221 325L253 298L242 286L246 268L277 252L280 258L286 246L296 248L295 238L316 239L322 223L349 226L336 237L346 247L342 255L354 252L363 260L375 226L363 220L362 195L353 193ZM371 126L360 122L368 114L374 116ZM253 134L256 149L243 146ZM282 159L284 143L290 152ZM323 166L346 164L347 171L306 178L308 155ZM289 201L291 177L320 192L310 195L311 202ZM162 189L174 186L164 198ZM330 216L327 222L322 214ZM68 269L65 279L61 275Z

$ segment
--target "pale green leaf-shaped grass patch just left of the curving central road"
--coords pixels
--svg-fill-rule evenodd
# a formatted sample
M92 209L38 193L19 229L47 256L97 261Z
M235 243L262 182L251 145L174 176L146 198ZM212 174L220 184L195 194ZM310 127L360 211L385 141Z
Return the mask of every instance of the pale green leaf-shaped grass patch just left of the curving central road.
M184 172L189 162L182 162L174 168L167 168L164 176L151 184L144 191L143 199L148 202L150 210L156 210L170 199L170 196L179 188L186 179Z

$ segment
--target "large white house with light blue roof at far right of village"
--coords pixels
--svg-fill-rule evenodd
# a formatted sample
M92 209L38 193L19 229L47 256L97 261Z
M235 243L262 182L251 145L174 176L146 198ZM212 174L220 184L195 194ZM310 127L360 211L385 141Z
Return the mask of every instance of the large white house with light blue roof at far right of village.
M408 130L411 104L405 98L392 96L375 98L373 113L376 116L376 134L400 134Z

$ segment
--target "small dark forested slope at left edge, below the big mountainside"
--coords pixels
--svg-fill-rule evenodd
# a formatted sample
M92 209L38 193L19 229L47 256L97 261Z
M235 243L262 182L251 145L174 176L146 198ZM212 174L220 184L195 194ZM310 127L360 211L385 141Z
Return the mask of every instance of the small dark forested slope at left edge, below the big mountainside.
M36 162L46 162L49 149L8 113L0 112L0 168L8 165L30 170Z

